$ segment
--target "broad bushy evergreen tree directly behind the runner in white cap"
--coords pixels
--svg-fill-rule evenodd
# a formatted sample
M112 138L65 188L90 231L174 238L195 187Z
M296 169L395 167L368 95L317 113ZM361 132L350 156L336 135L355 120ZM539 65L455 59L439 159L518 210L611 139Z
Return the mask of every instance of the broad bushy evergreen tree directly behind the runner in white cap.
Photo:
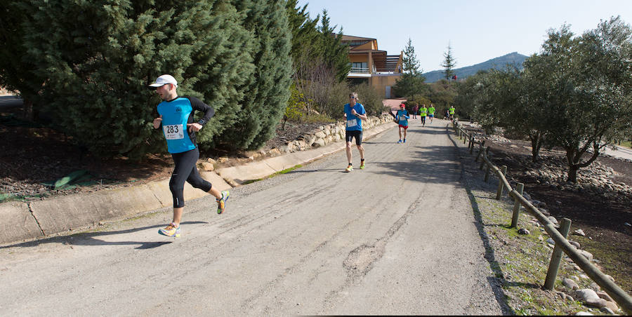
M178 79L179 95L216 109L200 144L237 118L254 70L253 39L228 1L33 0L28 6L32 21L21 25L25 59L34 64L32 76L45 79L31 93L91 151L140 158L165 148L152 128L160 100L147 88L161 74Z

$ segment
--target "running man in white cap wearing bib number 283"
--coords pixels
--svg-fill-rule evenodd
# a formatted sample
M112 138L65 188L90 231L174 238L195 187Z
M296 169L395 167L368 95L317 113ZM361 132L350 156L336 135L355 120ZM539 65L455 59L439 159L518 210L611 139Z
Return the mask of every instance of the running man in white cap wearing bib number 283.
M173 157L173 163L176 163L169 180L169 189L173 196L173 221L164 229L159 229L158 233L177 238L181 234L180 220L184 210L185 181L215 196L218 214L224 212L230 193L220 192L212 187L211 183L199 175L195 166L199 158L195 133L215 115L215 110L196 97L178 97L178 81L171 75L159 76L150 86L156 88L156 93L164 100L158 104L159 117L154 119L154 129L162 126L167 149ZM204 117L193 122L196 110L204 112Z

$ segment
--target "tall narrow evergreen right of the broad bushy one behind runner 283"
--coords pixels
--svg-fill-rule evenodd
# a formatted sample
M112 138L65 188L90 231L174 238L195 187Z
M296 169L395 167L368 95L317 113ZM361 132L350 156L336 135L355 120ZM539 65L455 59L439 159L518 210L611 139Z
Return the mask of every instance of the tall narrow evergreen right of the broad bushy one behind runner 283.
M291 33L281 0L234 2L246 12L244 27L256 36L256 69L237 120L220 139L233 148L258 149L274 136L290 96Z

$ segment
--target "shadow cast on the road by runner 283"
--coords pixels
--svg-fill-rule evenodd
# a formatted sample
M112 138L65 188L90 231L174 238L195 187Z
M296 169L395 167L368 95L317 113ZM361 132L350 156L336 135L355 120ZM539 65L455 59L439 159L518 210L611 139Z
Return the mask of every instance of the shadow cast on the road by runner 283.
M192 221L192 222L182 222L181 224L207 224L208 222L202 221ZM164 224L157 224L155 226L146 226L140 228L132 228L118 231L103 231L103 232L89 232L89 233L79 233L72 234L70 236L55 236L51 238L43 238L37 241L29 241L24 243L16 243L13 245L4 245L0 246L0 249L3 248L32 248L44 243L62 243L64 245L138 245L135 249L143 250L143 249L152 249L157 248L161 245L169 244L173 242L173 238L164 236L164 238L169 238L171 241L103 241L99 240L96 237L99 236L112 236L115 234L129 234L131 232L141 231L145 229L152 228L161 228L164 227ZM158 234L158 233L156 233Z

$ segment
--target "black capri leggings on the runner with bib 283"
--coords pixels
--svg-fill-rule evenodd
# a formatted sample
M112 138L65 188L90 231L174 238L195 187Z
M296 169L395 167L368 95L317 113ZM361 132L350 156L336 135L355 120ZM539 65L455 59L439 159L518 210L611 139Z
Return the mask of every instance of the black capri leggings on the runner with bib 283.
M199 175L195 163L199 158L199 150L195 149L182 153L172 153L173 163L176 168L173 169L171 180L169 180L169 189L173 196L173 208L184 207L184 182L189 182L192 187L202 189L203 191L211 190L211 183L206 182Z

